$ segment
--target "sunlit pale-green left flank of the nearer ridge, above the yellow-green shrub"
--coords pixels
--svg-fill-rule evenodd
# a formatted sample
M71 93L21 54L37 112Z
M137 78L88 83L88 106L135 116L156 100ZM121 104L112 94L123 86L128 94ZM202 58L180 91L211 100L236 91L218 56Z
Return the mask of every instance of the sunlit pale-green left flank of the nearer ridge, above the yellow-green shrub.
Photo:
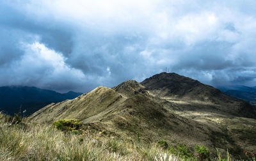
M52 122L61 118L86 119L113 107L124 98L113 89L98 87L74 100L50 104L32 114L29 118L38 123Z

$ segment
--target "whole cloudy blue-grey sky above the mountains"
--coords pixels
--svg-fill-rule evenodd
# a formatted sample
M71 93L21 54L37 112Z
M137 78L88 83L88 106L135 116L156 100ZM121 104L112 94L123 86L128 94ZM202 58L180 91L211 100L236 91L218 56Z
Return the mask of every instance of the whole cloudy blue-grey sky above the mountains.
M175 72L256 86L255 0L0 0L0 86L88 92Z

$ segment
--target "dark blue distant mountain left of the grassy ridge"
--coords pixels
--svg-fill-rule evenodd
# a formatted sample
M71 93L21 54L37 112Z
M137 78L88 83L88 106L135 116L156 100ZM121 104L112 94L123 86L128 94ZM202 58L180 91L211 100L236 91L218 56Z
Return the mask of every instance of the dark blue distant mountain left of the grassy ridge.
M73 99L81 94L72 91L61 94L56 91L27 86L3 86L0 87L0 111L13 115L26 109L24 115L28 116L52 102Z

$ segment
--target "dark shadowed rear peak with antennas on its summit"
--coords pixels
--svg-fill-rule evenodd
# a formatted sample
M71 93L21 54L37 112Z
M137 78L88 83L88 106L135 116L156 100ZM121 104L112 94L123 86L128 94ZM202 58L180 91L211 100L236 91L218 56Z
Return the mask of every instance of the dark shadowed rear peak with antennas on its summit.
M256 118L255 108L247 102L225 95L219 89L207 86L177 73L159 73L141 82L145 88L169 102L187 102L183 109L215 111L246 118ZM202 104L204 106L202 107Z

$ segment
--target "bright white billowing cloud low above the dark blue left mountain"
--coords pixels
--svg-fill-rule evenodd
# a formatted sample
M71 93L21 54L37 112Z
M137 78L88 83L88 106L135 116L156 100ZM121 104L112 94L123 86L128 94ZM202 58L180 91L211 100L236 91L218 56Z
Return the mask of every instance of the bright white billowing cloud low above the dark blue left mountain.
M5 73L6 77L10 79L8 85L23 84L51 88L49 84L58 82L65 88L65 84L77 82L80 84L81 81L86 81L84 73L68 66L65 63L66 58L62 54L48 49L44 44L38 42L21 44L24 50L21 59L0 69L0 73Z

